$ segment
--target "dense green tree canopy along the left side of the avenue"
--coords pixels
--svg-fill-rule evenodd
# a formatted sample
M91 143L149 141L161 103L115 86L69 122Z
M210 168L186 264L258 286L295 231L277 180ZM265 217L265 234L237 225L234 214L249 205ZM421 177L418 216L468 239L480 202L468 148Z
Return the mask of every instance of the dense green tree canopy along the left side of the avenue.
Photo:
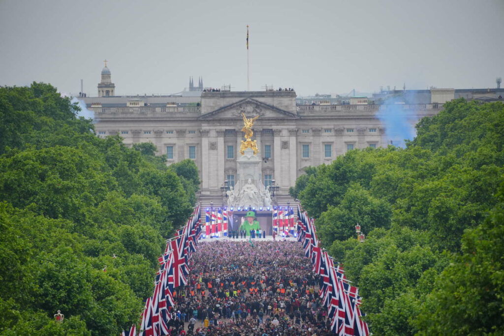
M152 144L100 139L78 111L48 84L0 87L2 335L129 329L164 239L192 213L193 162L168 168Z

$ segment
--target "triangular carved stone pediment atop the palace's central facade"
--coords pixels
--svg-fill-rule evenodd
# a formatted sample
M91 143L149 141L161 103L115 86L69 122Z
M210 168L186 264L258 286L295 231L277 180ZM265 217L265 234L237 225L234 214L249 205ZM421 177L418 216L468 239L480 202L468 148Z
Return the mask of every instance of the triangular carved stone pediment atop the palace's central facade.
M236 119L244 113L247 117L260 115L264 118L299 118L297 114L283 110L252 98L245 98L232 104L222 106L214 111L205 113L199 119Z

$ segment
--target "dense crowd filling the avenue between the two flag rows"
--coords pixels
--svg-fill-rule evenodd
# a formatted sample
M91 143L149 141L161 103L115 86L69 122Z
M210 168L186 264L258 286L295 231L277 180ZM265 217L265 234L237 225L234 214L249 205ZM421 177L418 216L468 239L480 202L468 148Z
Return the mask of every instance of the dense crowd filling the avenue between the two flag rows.
M298 242L201 242L190 266L173 293L172 335L332 334Z

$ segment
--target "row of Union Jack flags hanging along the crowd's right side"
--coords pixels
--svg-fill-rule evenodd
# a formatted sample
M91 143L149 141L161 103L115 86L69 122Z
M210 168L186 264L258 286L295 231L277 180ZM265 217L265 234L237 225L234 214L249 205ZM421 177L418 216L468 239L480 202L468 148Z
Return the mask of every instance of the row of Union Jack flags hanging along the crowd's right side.
M331 330L339 336L369 335L367 323L361 320L361 299L357 287L345 277L343 267L320 247L313 218L297 206L297 240L311 259L312 271L320 276L319 296L328 309Z

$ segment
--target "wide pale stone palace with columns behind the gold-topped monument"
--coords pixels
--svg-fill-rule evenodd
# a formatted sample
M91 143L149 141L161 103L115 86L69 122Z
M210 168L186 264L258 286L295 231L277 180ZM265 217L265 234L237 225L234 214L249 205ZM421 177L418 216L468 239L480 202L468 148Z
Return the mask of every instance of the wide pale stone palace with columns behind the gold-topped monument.
M105 83L103 83L105 82ZM101 84L101 87L100 87ZM124 144L151 142L167 164L194 160L202 181L200 197L221 202L221 187L237 179L242 115L259 116L252 140L261 159L264 186L278 186L285 200L304 168L329 164L352 149L387 147L387 129L380 121L386 105L296 105L293 89L231 91L229 87L199 86L180 95L113 96L110 71L102 71L98 97L84 98L94 111L97 135L119 134ZM113 94L113 91L111 91ZM415 123L436 114L442 104L402 104L402 113Z

